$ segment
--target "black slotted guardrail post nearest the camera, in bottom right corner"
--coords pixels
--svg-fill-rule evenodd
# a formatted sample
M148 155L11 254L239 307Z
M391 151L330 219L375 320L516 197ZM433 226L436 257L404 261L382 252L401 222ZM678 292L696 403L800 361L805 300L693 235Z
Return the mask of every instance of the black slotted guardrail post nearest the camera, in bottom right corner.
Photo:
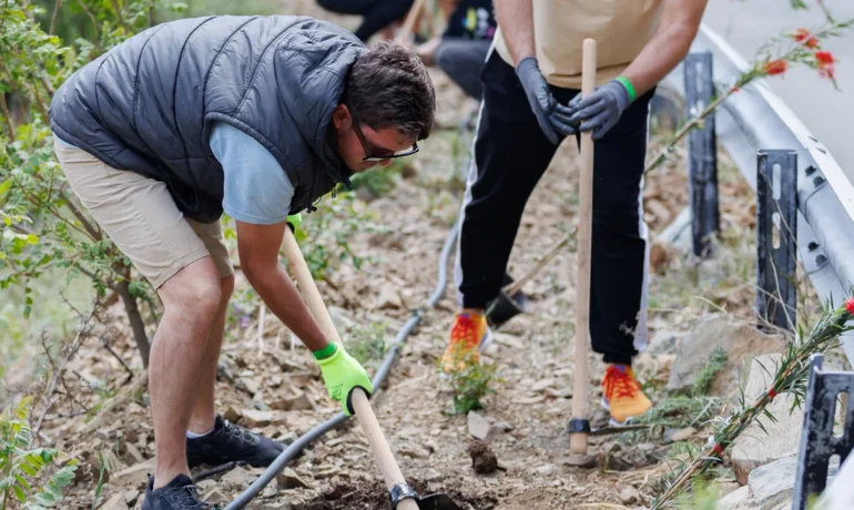
M803 510L811 497L821 494L827 484L831 457L840 456L840 465L854 447L854 373L824 373L824 355L810 357L810 385L806 389L804 428L801 431L801 450L797 456L797 473L793 509ZM838 395L848 395L845 410L845 429L833 434Z

